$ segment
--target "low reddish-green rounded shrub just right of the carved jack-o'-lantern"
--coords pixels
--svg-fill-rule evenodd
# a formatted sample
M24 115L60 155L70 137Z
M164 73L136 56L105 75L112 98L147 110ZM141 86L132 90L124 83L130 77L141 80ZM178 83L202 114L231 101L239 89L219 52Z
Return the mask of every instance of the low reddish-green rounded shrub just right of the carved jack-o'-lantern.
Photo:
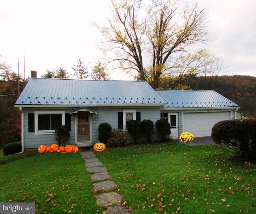
M108 147L123 147L130 143L127 132L122 129L112 130L110 139L108 140Z

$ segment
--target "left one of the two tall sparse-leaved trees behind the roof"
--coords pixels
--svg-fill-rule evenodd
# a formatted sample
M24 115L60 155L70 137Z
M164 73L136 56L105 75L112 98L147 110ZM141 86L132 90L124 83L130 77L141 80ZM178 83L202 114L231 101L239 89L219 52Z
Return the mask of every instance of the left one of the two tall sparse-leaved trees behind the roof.
M108 19L109 26L96 25L106 39L106 46L101 49L110 62L118 62L119 68L127 72L135 70L138 79L145 80L142 51L148 20L140 15L141 0L111 0L111 3L113 14Z

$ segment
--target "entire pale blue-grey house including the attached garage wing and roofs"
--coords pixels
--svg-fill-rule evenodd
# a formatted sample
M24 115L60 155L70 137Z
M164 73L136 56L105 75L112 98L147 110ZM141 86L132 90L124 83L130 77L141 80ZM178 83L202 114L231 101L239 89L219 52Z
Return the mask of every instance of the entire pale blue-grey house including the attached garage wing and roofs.
M32 76L32 75L31 75ZM33 77L33 76L32 76ZM160 118L171 124L172 138L182 132L210 136L220 120L239 108L214 91L155 91L146 81L31 78L14 107L22 112L22 149L55 143L55 128L66 125L69 144L98 141L98 126L126 130L129 120ZM154 126L153 140L159 140Z

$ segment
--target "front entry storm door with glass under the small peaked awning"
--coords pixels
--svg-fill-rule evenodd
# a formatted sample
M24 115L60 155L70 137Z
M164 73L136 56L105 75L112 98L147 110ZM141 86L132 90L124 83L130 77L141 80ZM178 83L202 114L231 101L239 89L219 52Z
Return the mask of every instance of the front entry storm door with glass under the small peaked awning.
M77 117L77 142L90 141L90 112L78 112Z

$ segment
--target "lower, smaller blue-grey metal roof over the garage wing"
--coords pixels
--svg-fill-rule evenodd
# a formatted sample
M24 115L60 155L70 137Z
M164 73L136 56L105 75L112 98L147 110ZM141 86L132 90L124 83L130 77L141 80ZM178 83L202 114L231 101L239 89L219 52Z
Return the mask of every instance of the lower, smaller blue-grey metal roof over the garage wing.
M213 90L156 90L165 100L164 108L239 107Z

